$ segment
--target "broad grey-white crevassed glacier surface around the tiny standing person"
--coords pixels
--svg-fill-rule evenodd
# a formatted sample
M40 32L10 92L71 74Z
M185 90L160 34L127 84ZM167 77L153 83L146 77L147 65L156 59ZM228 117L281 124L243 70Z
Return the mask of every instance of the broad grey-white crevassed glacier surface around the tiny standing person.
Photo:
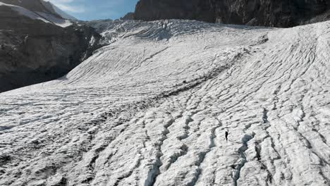
M91 24L108 46L0 94L0 185L330 184L330 22Z

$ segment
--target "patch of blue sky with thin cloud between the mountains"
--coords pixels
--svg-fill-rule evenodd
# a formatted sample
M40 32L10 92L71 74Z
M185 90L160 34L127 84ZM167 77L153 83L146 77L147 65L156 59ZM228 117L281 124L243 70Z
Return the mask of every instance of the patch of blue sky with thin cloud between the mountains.
M133 12L138 0L48 0L79 20L116 19Z

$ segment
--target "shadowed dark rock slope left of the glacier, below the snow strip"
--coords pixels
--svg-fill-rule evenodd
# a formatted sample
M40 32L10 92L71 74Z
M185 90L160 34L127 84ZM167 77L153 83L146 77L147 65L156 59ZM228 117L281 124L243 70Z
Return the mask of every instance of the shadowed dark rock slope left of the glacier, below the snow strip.
M0 92L59 78L99 48L91 27L59 27L8 6L0 6L0 18Z

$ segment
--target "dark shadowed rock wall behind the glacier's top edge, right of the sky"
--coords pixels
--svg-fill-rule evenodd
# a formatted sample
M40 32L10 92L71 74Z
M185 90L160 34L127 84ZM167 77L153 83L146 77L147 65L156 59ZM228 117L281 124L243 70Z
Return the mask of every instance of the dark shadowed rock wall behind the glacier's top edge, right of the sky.
M329 20L329 10L328 0L140 0L134 17L293 27Z

